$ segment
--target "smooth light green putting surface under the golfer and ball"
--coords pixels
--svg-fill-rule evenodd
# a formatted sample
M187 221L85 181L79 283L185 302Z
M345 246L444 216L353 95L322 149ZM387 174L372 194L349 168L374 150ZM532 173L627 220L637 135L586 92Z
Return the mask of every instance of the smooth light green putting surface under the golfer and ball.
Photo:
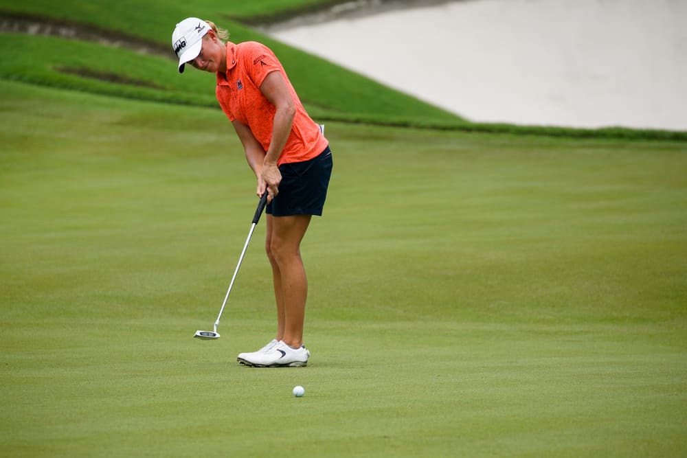
M217 109L0 81L8 457L687 455L687 144L330 123L302 369ZM295 385L305 396L294 398Z

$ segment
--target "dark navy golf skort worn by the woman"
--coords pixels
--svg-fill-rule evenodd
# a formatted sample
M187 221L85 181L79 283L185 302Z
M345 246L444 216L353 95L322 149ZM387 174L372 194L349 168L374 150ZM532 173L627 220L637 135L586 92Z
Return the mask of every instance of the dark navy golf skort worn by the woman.
M272 216L322 216L334 162L329 146L308 161L279 166L279 192L265 211Z

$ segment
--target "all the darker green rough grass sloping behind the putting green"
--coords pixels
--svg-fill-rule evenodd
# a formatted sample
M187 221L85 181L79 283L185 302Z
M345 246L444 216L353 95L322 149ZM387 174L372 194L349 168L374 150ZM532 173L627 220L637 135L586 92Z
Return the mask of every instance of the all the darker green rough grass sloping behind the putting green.
M317 8L317 5L341 3L336 0L255 0L242 3L202 0L194 1L192 6L162 0L143 3L134 0L115 3L67 0L60 2L60 8L54 8L52 1L49 0L5 3L0 4L0 13L29 14L57 21L90 25L101 30L143 38L164 47L167 47L169 43L171 25L180 18L200 16L214 19L222 27L229 28L232 32L232 40L236 42L258 40L270 45L289 71L291 80L308 108L308 112L323 121L565 137L687 140L686 132L662 130L571 129L466 122L440 108L429 106L337 65L272 41L250 27L245 27L235 21L256 16L288 15L300 10ZM145 18L145 21L142 21L142 18ZM3 36L3 43L6 44L6 49L12 51L0 62L0 78L3 79L25 80L97 93L121 93L127 97L146 100L169 100L174 103L214 106L214 101L211 100L212 91L207 89L208 84L212 85L212 81L208 80L207 75L192 77L186 75L179 78L171 70L173 65L171 61L142 58L131 51L74 45L45 38L27 41L24 36ZM92 57L93 55L96 57ZM108 72L118 77L128 78L135 73L139 76L137 79L161 84L163 89L142 90L137 87L125 87L122 84L113 87L112 84L65 76L54 70L56 65L60 65L58 62L61 60L71 61L75 68L102 71L102 67L108 67Z

